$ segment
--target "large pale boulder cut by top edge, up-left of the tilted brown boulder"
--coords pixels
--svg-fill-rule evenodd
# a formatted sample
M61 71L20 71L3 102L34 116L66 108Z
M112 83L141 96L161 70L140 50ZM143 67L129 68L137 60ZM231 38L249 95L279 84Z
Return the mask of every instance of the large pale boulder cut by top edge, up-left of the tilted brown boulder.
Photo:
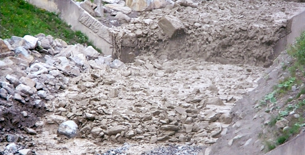
M153 0L126 0L126 6L137 12L153 9Z

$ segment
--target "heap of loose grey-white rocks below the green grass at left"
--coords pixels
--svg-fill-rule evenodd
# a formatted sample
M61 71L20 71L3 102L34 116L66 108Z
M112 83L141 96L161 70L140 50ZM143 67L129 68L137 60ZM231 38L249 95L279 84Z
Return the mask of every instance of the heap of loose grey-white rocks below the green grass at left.
M67 89L68 77L90 69L114 68L122 62L101 56L91 46L67 45L61 39L38 34L0 39L0 128L30 128L46 111L58 92ZM120 64L121 63L121 64ZM106 65L107 64L107 65ZM90 84L90 83L89 83ZM49 102L49 103L48 103Z

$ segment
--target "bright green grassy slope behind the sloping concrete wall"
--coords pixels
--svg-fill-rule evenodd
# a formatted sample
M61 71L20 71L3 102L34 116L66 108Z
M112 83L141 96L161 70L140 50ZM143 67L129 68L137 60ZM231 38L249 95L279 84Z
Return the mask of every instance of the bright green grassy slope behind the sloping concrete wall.
M86 35L80 31L74 32L70 27L57 14L37 8L25 0L0 0L1 39L44 33L60 38L68 44L93 46Z

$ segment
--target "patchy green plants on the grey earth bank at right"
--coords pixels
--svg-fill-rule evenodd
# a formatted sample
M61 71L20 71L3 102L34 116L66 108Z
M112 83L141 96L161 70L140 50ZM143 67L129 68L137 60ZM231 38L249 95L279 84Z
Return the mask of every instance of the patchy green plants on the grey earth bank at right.
M265 141L268 151L273 150L276 146L284 144L292 137L300 133L301 128L305 127L305 32L297 39L297 42L292 45L288 50L288 54L293 58L293 63L283 65L283 70L290 72L290 77L280 81L274 90L260 100L260 106L265 106L265 112L278 111L278 114L271 117L269 127L273 129L273 140ZM298 90L292 91L293 86L298 86ZM285 95L290 95L284 104L279 107L278 100L281 100ZM281 100L283 101L283 100ZM295 114L299 117L294 116ZM283 130L274 130L277 121L282 119L289 120L287 127ZM262 137L262 136L261 136Z

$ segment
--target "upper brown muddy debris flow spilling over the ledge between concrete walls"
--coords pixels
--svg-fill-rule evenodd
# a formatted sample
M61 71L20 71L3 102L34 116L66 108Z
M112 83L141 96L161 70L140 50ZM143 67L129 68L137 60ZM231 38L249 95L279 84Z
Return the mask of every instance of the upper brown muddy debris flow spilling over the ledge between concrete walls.
M102 23L112 34L113 57L122 62L149 54L264 67L279 54L273 51L278 39L290 33L289 19L305 6L282 0L104 0L105 6L94 2L110 14L112 26ZM132 16L136 13L131 9L140 13Z

